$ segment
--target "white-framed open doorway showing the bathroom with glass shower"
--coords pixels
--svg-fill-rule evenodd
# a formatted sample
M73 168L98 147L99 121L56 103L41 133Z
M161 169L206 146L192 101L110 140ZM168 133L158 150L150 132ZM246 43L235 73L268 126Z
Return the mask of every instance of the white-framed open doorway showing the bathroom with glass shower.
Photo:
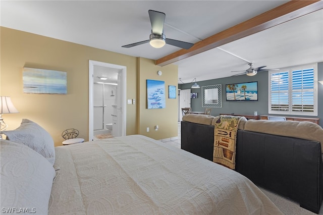
M89 141L126 135L126 67L89 61Z

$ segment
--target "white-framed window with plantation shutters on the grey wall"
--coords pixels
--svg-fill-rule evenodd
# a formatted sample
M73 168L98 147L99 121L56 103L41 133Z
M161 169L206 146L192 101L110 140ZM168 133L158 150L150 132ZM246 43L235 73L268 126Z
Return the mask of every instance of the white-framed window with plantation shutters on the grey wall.
M317 64L268 72L268 113L317 116Z

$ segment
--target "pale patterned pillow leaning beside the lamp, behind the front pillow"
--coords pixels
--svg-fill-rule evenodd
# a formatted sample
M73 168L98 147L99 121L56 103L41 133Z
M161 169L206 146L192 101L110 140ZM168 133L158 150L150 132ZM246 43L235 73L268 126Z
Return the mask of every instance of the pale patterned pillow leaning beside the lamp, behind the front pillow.
M55 163L55 146L50 134L30 120L23 119L20 126L13 131L1 132L7 139L22 143L43 155L51 165Z

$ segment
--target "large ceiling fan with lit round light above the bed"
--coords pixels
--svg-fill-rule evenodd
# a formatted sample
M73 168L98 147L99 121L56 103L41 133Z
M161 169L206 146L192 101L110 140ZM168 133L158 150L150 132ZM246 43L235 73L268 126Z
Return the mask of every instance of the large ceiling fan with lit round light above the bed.
M189 49L194 45L193 43L166 38L166 35L164 34L164 23L166 17L165 13L149 10L148 14L151 24L151 34L149 36L149 39L141 42L123 45L122 47L130 48L147 42L149 42L150 45L154 48L161 48L165 44L170 44L180 48Z

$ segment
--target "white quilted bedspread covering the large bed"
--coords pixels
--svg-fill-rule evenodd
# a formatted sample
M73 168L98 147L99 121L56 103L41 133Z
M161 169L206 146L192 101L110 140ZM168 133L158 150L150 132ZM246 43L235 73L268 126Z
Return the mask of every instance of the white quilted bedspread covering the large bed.
M141 135L56 147L49 214L282 214L239 173Z

